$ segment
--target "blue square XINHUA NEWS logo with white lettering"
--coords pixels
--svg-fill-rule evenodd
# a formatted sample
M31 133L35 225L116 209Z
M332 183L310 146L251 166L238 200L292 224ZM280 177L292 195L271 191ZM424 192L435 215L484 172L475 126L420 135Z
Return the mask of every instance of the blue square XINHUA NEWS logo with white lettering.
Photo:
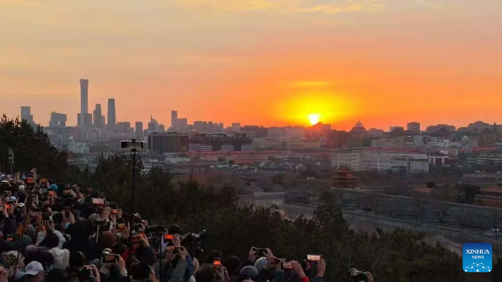
M491 244L465 243L462 261L465 272L491 272Z

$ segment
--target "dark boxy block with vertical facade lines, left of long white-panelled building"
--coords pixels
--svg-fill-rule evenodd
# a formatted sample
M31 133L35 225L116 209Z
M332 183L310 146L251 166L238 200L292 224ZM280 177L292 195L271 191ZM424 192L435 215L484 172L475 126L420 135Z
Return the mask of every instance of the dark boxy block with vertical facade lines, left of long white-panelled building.
M180 153L188 151L188 134L178 132L153 132L148 135L151 152Z

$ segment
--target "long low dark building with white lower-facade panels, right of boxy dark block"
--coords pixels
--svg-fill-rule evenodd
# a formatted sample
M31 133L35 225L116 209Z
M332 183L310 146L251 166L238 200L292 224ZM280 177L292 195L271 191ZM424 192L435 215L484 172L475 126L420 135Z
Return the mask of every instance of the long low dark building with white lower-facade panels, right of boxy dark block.
M197 152L215 151L252 151L254 150L253 139L245 134L228 136L225 133L197 134L190 137L188 149Z

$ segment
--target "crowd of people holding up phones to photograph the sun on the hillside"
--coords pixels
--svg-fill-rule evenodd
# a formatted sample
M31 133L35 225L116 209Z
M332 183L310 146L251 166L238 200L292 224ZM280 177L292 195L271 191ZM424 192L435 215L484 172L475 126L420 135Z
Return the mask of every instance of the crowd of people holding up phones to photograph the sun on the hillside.
M0 179L0 282L323 281L322 255L286 261L266 246L243 259L201 254L200 235L149 225L97 189L54 183L36 168Z

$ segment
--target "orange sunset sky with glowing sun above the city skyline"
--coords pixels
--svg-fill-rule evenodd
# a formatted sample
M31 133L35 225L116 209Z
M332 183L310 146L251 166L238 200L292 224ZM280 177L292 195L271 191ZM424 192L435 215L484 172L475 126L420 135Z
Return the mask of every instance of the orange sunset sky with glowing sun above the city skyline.
M76 123L80 78L118 121L502 122L499 0L47 2L0 2L3 112L42 125Z

